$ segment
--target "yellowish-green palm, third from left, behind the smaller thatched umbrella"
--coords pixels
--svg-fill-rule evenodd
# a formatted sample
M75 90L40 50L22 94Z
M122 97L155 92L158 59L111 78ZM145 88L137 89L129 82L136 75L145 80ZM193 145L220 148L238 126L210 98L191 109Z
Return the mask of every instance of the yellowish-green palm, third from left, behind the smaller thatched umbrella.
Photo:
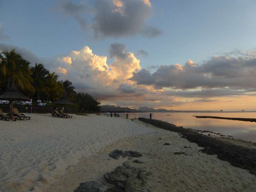
M47 93L47 101L58 100L64 92L63 85L57 81L58 77L55 72L48 72L46 76L44 90Z

